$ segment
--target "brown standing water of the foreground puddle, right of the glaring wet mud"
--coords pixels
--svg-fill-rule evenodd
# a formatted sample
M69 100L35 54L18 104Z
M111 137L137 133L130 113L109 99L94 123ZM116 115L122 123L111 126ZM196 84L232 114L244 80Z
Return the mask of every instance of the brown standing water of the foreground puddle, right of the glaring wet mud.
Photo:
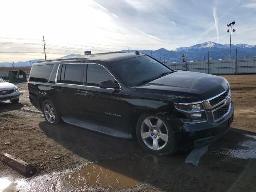
M64 186L102 186L104 188L126 189L144 180L145 170L132 160L104 160L100 164L89 164L69 174Z

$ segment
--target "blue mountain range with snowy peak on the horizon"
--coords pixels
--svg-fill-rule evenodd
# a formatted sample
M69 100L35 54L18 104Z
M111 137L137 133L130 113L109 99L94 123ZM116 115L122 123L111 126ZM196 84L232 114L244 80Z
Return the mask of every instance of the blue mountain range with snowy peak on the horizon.
M231 57L236 58L236 50L237 50L237 58L244 57L256 57L256 46L248 45L248 44L231 44ZM208 52L210 59L228 59L229 58L229 44L219 44L215 42L204 42L196 45L192 45L190 47L180 47L175 50L167 50L165 48L160 48L158 50L129 50L129 52L139 51L141 53L145 53L148 55L152 55L154 58L164 61L164 57L166 58L166 62L178 62L182 61L181 56L185 54L187 61L201 61L208 60ZM122 52L128 52L128 50L122 50ZM70 54L67 56L78 56L79 54ZM64 56L64 57L67 57ZM43 59L35 59L25 62L16 62L15 66L31 66L33 62L37 62ZM0 66L12 66L12 62L4 62L0 63Z

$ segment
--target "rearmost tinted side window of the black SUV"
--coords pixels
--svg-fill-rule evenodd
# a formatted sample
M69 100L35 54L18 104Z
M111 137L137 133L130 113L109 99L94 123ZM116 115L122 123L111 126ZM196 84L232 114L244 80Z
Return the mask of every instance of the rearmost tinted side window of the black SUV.
M48 82L54 64L33 66L29 81Z

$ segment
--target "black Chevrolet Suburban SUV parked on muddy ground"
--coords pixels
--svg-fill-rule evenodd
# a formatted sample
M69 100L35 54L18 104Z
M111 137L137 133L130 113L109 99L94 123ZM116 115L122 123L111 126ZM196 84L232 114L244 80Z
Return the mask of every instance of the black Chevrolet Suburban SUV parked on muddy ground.
M33 64L30 102L50 124L62 120L155 154L210 144L233 121L225 78L174 71L139 52L105 53Z

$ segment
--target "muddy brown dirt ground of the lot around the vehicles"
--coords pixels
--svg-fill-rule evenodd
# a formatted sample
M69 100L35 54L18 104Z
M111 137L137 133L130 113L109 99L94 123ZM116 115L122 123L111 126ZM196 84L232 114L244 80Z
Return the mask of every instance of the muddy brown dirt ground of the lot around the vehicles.
M18 84L20 103L0 103L0 153L29 162L36 174L23 176L0 163L0 192L1 181L13 182L9 191L256 191L256 75L224 77L232 89L234 122L198 166L184 163L189 152L154 156L136 140L48 125L31 106L27 85Z

